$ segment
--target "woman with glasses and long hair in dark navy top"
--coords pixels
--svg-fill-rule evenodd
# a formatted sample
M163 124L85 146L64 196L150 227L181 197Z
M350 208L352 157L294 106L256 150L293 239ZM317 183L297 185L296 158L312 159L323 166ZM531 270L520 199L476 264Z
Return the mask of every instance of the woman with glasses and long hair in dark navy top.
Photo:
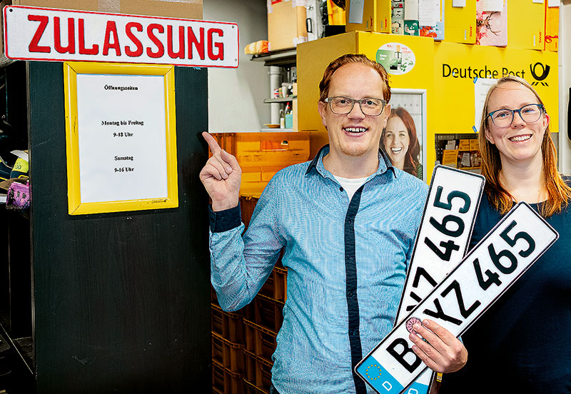
M560 238L462 336L468 363L445 393L571 393L571 181L557 172L550 116L527 81L490 88L480 125L485 193L471 246L517 201Z

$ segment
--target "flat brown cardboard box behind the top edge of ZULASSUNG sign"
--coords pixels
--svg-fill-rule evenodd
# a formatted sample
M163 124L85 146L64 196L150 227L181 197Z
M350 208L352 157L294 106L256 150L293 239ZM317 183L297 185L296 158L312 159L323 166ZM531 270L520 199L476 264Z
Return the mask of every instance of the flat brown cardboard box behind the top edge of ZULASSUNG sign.
M202 19L202 0L12 0L14 6Z

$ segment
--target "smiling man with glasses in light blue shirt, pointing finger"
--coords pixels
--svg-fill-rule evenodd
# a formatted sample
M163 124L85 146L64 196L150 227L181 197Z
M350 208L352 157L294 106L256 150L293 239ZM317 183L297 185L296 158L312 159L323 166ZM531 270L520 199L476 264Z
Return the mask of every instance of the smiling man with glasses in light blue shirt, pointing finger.
M329 144L313 161L279 171L241 236L236 158L204 133L213 156L201 171L212 198L211 280L237 310L258 293L283 248L288 299L273 354L271 393L373 393L355 365L393 328L427 186L379 150L390 113L383 66L348 54L320 82L318 111ZM452 372L463 345L434 322L413 349Z

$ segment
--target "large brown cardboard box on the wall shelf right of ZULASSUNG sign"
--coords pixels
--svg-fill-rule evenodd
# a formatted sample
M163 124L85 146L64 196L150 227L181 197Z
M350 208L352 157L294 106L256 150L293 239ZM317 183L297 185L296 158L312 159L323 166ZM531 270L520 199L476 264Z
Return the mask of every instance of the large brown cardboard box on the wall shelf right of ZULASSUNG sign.
M298 6L295 0L268 1L268 49L280 51L295 48L308 41L305 26L305 6Z

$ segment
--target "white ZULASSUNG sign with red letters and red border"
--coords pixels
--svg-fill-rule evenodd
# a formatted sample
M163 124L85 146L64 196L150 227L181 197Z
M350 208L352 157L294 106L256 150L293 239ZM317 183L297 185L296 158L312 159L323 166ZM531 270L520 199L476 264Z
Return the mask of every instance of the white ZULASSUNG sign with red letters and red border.
M238 67L238 25L29 6L4 7L9 59Z

